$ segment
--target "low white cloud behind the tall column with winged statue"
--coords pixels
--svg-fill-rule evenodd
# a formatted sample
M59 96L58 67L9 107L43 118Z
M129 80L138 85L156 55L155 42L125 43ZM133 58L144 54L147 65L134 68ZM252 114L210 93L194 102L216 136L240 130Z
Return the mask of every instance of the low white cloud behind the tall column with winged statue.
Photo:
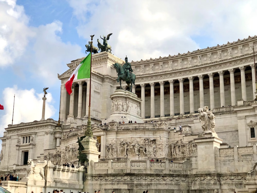
M32 122L42 118L42 93L36 93L34 89L21 90L16 85L12 88L7 87L3 91L3 101L1 103L4 106L4 110L1 110L1 113L4 113L4 115L0 118L0 133L4 132L4 128L7 128L8 124L12 124L14 94L13 125L21 122ZM51 93L48 93L46 97L45 119L53 116L55 112Z

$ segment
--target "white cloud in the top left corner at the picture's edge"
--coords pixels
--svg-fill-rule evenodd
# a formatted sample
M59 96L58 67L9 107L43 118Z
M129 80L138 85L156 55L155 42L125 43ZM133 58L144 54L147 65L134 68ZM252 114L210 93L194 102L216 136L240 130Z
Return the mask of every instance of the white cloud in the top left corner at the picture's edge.
M24 53L29 37L34 36L28 22L23 6L0 1L0 67L12 64Z

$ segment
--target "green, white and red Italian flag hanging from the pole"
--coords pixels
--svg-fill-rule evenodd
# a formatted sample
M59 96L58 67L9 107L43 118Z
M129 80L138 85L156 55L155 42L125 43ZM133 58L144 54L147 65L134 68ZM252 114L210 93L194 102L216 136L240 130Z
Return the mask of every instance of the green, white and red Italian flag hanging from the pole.
M77 66L75 71L71 74L69 80L66 82L65 87L69 94L72 93L72 83L75 80L90 78L91 73L91 52L87 55L87 57Z

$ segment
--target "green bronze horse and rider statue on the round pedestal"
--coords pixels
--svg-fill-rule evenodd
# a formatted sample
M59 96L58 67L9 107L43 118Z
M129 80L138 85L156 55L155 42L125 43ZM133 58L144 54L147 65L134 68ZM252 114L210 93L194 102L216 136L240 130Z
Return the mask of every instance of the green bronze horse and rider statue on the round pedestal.
M121 86L121 80L125 81L129 86L129 91L132 92L132 85L134 84L135 86L136 76L134 73L132 73L133 70L131 68L131 64L128 63L127 56L125 58L125 62L126 63L123 66L119 63L115 63L113 64L113 66L116 69L116 72L118 73L117 82L120 82ZM120 89L122 89L122 87L120 87Z

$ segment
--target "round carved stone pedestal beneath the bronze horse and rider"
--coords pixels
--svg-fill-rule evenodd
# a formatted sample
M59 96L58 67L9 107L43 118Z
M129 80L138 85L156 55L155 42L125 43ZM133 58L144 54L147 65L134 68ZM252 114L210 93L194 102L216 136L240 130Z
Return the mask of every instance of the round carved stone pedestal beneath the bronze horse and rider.
M111 115L107 120L103 120L103 124L109 122L125 122L132 120L132 122L143 123L141 118L140 103L141 99L137 98L137 95L118 89L111 94Z

